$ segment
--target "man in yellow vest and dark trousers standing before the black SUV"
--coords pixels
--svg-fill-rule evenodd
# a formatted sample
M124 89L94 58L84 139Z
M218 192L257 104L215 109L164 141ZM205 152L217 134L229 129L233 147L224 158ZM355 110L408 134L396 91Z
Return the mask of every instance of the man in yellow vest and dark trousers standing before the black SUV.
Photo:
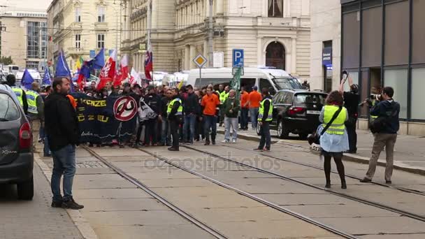
M263 88L261 94L263 100L260 103L258 114L258 122L261 126L261 139L259 146L254 150L268 152L271 147L270 122L273 119L273 102L267 88Z

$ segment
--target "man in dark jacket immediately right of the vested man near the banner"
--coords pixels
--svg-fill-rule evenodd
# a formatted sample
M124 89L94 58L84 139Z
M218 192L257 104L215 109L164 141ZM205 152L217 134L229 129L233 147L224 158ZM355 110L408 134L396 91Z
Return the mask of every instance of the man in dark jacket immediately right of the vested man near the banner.
M184 100L183 106L185 110L185 124L183 125L183 139L185 143L192 145L195 136L195 122L199 115L199 100L194 94L192 85L187 85L187 97ZM190 132L189 132L190 131Z

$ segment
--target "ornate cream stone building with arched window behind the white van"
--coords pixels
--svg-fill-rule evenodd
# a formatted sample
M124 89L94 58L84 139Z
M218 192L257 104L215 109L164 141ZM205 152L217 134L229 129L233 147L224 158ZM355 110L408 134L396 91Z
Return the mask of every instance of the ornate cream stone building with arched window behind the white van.
M208 58L209 0L152 0L152 23L145 0L127 4L129 29L124 49L143 70L150 29L155 71L196 68L199 53ZM245 67L275 66L293 75L310 74L310 1L308 0L214 0L213 51L223 52L224 67L231 67L232 49L245 50ZM150 24L152 26L149 28Z

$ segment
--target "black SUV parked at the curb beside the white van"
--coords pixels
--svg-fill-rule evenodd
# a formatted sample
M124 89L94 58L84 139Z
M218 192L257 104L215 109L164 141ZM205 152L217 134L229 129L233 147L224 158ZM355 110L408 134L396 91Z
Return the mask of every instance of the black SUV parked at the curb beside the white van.
M289 133L307 138L319 126L319 115L327 94L299 89L282 89L273 96L273 121L271 129L278 131L278 138ZM259 127L257 127L259 133Z

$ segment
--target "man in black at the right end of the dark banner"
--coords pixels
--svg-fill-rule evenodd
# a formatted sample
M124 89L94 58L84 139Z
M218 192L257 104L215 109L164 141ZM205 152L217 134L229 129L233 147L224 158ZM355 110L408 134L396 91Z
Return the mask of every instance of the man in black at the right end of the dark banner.
M149 146L151 139L152 145L157 145L157 128L158 122L162 122L162 106L161 98L155 93L155 87L150 85L147 87L148 94L144 97L145 103L149 106L158 117L155 119L148 119L145 122L145 146Z

